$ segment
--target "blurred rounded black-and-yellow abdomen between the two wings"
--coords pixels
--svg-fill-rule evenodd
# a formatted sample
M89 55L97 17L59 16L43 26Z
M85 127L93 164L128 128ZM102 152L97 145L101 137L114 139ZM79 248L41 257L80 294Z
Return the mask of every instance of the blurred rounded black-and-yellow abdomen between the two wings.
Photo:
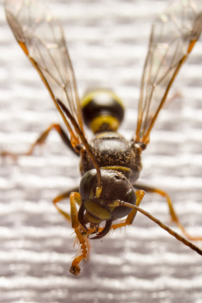
M122 101L109 90L95 90L82 101L85 124L94 132L116 131L124 117Z

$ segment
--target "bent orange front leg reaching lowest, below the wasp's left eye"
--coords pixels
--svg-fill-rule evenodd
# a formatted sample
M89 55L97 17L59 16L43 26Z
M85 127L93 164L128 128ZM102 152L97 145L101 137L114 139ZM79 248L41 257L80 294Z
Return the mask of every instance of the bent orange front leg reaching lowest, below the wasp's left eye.
M75 276L78 276L80 274L81 269L79 263L81 262L82 259L86 260L88 254L88 246L86 243L86 239L82 235L81 225L79 224L79 219L78 219L78 211L76 207L76 203L78 203L78 200L81 201L80 194L76 192L71 193L70 206L71 206L72 228L74 228L77 239L81 245L81 253L73 259L71 267L69 268L70 273L72 273Z

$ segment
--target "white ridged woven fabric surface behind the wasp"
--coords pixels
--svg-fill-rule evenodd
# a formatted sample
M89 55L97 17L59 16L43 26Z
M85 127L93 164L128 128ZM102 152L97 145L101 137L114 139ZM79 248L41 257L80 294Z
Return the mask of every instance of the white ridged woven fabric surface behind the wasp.
M47 2L64 26L80 96L91 85L113 88L127 107L121 133L131 138L150 25L167 0ZM60 117L2 3L0 25L0 149L20 152ZM166 190L189 232L202 236L201 62L202 39L153 129L141 180ZM92 241L82 274L69 273L74 236L51 201L79 179L78 159L54 132L33 156L0 160L0 302L202 303L202 257L141 214ZM170 224L163 198L147 194L142 207Z

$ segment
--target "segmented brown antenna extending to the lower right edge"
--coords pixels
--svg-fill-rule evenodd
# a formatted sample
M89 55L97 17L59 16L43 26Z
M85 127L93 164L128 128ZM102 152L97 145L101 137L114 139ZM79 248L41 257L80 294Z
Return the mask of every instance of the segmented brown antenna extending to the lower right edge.
M193 244L191 241L185 239L184 237L182 237L180 234L178 234L176 231L174 231L172 228L170 228L168 225L164 224L163 222L161 222L159 219L157 219L156 217L152 216L151 213L149 213L148 211L144 210L143 208L140 208L137 205L133 205L127 202L120 202L120 205L124 205L130 208L134 208L137 211L141 212L142 214L144 214L146 217L148 217L150 220L152 220L154 223L156 223L158 226L160 226L162 229L166 230L171 236L175 237L175 239L177 239L178 241L182 242L183 244L185 244L186 246L188 246L189 248L191 248L193 251L199 253L200 255L202 255L202 249L200 249L198 246L196 246L195 244Z

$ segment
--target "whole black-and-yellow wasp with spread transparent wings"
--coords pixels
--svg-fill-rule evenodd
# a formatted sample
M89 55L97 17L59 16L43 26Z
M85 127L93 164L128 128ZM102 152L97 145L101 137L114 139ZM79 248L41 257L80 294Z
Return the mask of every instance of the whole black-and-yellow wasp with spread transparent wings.
M169 196L162 190L137 183L142 169L141 154L150 142L158 113L200 37L201 1L176 0L152 24L136 132L130 141L117 132L124 118L124 105L115 93L95 89L79 99L63 29L55 16L35 0L5 0L4 8L19 46L38 71L68 131L67 135L59 124L50 125L24 154L29 155L37 145L44 144L55 129L66 146L80 157L79 187L53 200L57 210L71 222L79 244L70 272L79 275L79 264L88 257L89 239L101 239L111 230L131 225L137 212L202 255L202 250L190 241L202 238L186 232ZM84 123L94 133L92 140L87 140ZM1 155L14 154L1 152ZM166 198L172 220L189 240L139 207L145 191ZM66 198L70 198L70 214L57 204ZM121 218L125 219L114 224Z

